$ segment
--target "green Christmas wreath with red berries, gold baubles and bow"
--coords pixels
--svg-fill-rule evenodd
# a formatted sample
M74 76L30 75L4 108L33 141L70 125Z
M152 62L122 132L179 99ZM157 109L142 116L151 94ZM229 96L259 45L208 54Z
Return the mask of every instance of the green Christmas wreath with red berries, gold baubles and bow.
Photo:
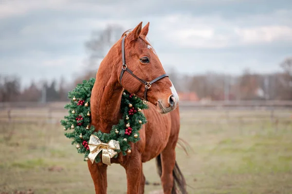
M69 115L64 117L65 120L61 120L61 124L65 131L71 130L65 132L65 136L73 139L72 144L76 144L78 153L84 154L84 161L90 159L98 163L102 154L103 162L110 165L110 158L116 158L117 153L127 155L131 152L129 142L136 143L140 140L138 131L142 124L146 123L141 110L146 109L147 105L144 105L135 94L124 90L121 99L122 119L112 126L110 133L103 133L100 130L96 132L94 126L90 125L90 98L94 82L94 78L84 80L69 92L71 102L65 106L69 110Z

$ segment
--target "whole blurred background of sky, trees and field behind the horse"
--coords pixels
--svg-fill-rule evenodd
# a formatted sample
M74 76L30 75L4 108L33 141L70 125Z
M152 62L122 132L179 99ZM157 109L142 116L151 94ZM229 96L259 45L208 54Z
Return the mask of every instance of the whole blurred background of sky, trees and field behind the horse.
M290 0L0 0L0 194L93 193L59 122L140 21L179 93L189 193L291 194L291 18ZM154 161L144 171L161 193ZM122 167L108 181L126 193Z

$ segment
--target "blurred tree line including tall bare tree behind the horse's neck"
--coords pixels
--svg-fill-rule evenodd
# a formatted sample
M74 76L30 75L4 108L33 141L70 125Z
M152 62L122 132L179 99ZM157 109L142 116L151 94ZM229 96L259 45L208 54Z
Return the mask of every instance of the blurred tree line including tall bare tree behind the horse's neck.
M65 83L61 78L51 83L43 82L21 90L20 78L0 74L0 102L52 102L67 101L68 91L83 79L95 77L91 67L96 68L108 53L111 45L120 38L122 27L109 25L101 31L93 31L85 42L88 53L86 66L88 72ZM292 100L292 57L279 64L281 72L270 74L252 73L245 70L241 75L214 72L184 75L176 69L166 69L172 83L180 93L194 93L199 100Z

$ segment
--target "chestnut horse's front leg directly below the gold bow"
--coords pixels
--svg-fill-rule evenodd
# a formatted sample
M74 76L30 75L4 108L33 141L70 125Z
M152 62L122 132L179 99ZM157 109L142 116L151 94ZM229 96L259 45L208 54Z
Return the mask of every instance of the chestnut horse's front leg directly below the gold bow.
M88 168L94 183L95 194L106 194L108 181L107 181L107 167L108 165L99 162L93 164L88 161Z

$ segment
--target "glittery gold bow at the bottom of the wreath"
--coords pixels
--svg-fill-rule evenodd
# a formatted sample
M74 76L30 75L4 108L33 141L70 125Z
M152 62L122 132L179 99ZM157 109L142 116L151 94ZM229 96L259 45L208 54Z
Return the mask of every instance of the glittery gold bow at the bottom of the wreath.
M93 163L95 157L102 150L102 162L110 166L110 159L118 154L114 150L120 149L119 141L110 140L108 143L103 143L101 140L95 136L91 135L88 143L90 153L88 158Z

